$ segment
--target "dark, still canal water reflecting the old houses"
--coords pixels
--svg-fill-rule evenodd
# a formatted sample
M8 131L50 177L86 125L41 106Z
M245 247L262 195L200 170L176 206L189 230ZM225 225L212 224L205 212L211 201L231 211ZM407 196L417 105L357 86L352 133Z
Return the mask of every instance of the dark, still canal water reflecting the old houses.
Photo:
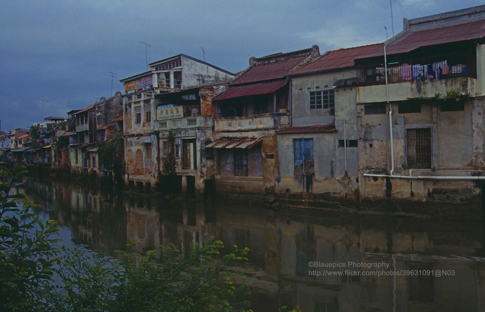
M62 239L115 256L180 250L214 236L248 247L252 309L485 311L484 219L390 218L259 204L113 195L84 183L30 178L25 193L62 226ZM228 248L227 251L230 251Z

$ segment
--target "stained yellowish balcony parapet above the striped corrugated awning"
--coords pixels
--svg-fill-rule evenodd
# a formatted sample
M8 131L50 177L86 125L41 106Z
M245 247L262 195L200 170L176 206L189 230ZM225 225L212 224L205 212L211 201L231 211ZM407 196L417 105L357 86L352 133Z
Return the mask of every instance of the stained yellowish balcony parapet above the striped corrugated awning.
M214 121L215 131L251 131L278 129L290 124L289 113L267 113L243 117L218 118Z

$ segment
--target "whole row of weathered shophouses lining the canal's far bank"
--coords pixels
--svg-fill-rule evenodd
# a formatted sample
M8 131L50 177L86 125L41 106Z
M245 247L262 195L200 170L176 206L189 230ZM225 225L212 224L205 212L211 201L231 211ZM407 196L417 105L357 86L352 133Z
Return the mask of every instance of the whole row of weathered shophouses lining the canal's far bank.
M404 19L384 43L252 57L236 75L180 54L70 112L59 162L99 171L93 143L117 132L137 189L464 200L485 179L484 39L482 5Z

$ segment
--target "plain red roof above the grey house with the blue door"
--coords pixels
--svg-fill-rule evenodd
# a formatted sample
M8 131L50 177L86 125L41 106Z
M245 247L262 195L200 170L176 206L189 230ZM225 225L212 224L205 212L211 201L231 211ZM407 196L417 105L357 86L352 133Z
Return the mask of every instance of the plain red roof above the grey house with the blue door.
M379 43L369 46L327 51L315 61L303 65L291 74L307 74L324 70L352 67L354 66L354 59L375 51L383 50L383 48L383 44Z

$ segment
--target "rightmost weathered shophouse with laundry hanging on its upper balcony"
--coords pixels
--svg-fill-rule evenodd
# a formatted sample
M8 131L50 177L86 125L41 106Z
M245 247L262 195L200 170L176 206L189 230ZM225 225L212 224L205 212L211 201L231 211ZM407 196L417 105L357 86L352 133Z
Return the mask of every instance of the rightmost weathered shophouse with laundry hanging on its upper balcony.
M485 169L485 6L404 19L385 46L386 58L382 47L356 60L361 199L476 195Z

